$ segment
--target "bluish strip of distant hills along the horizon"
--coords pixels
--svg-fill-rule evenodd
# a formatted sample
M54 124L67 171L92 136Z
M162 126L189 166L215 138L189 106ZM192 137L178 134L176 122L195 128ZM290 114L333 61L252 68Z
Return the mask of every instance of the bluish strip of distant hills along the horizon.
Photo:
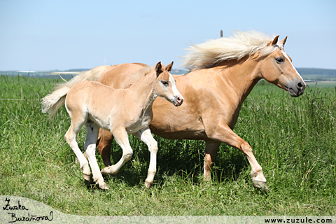
M68 74L61 74L62 78L70 79L81 71L87 71L88 69L70 69L66 71L0 71L2 76L29 76L35 78L60 78L59 75L55 75L55 72L66 72ZM297 69L304 80L334 80L336 81L336 69ZM69 74L73 72L73 74ZM183 75L188 73L188 70L184 69L173 69L173 74Z

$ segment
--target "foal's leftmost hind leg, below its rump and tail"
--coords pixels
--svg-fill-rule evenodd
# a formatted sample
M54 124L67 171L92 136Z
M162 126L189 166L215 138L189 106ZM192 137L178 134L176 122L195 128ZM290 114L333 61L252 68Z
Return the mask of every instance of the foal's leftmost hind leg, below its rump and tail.
M76 141L77 134L80 131L80 128L83 127L85 123L85 119L81 116L80 113L73 114L69 113L71 116L71 125L69 127L69 130L66 132L64 138L66 142L69 144L70 148L73 150L73 153L76 154L76 157L78 158L80 169L83 172L83 177L85 180L90 181L90 168L89 164L84 157L83 153L78 148L78 144Z

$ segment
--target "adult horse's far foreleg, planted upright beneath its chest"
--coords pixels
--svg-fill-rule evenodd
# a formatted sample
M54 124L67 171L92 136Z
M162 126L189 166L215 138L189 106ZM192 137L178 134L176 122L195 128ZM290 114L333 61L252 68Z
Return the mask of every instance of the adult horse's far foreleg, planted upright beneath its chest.
M221 141L207 141L205 144L204 181L211 181L211 168L214 166L219 146L221 146Z

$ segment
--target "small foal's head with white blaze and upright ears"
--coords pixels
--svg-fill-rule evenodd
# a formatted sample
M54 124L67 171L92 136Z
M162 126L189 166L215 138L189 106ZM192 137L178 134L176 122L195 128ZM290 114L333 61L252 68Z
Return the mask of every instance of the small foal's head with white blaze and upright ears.
M158 92L159 97L167 99L174 106L181 106L183 103L183 97L179 90L177 90L175 79L169 71L172 71L172 64L164 65L158 62L155 66L156 71L156 86L155 89Z

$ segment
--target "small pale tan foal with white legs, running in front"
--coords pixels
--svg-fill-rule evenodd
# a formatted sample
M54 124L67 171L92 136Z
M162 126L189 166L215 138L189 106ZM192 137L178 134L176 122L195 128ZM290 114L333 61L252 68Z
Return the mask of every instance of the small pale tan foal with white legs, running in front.
M158 96L164 97L174 106L180 106L183 102L175 80L169 73L172 70L172 64L162 69L162 64L159 62L155 70L150 66L144 66L139 71L141 73L139 76L144 76L144 78L127 89L116 90L97 81L86 80L71 87L67 94L56 96L58 101L65 98L66 111L71 117L71 125L65 134L65 139L76 154L86 180L90 180L90 168L76 141L77 134L83 125L87 130L85 152L92 169L92 178L99 184L99 188L108 189L95 158L99 128L109 130L123 148L122 158L116 165L109 167L111 174L117 174L125 162L132 158L133 151L128 134L134 134L148 145L151 151L151 161L145 183L148 188L151 186L156 173L158 152L158 144L148 127L153 118L154 99ZM55 102L55 94L43 98L45 105L50 105L48 104L49 99ZM57 109L57 107L45 108L51 114L55 114Z

